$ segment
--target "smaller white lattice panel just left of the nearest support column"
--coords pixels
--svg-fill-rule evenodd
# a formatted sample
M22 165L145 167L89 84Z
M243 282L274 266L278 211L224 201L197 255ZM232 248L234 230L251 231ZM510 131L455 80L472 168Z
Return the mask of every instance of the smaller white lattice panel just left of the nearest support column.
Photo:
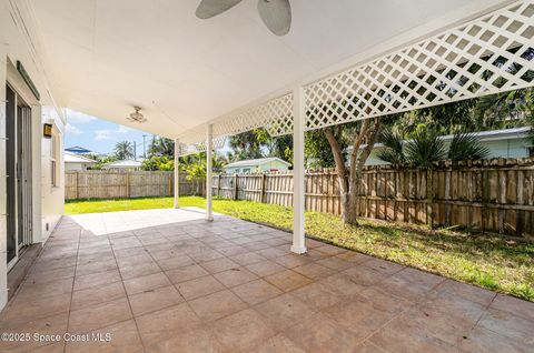
M214 124L214 135L234 135L263 127L271 135L293 132L293 93L222 117Z

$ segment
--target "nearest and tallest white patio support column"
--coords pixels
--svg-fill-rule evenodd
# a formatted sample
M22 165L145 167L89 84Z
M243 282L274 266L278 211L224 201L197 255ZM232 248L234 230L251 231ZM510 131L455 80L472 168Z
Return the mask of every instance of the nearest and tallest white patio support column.
M297 87L294 92L293 107L293 245L297 254L306 252L304 233L305 168L304 168L304 131L306 125L306 108L304 88Z

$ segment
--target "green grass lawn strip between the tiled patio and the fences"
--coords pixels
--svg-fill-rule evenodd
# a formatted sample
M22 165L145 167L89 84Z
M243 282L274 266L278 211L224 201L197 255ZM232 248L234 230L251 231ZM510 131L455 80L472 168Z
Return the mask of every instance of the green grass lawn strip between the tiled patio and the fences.
M66 213L92 213L170 208L172 198L69 201ZM181 206L205 206L202 198L180 198ZM290 208L248 201L214 200L214 211L285 230L293 226ZM458 281L534 301L534 244L498 235L431 231L413 224L360 221L306 213L306 233L333 244L423 269Z

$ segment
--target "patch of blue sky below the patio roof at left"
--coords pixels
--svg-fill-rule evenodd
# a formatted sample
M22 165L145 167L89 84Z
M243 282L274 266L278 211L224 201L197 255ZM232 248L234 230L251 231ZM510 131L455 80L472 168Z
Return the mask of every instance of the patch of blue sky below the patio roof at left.
M142 135L147 135L147 148L152 135L107 120L67 110L67 128L65 148L80 145L97 153L113 152L119 141L131 141L137 144L137 154L142 155Z

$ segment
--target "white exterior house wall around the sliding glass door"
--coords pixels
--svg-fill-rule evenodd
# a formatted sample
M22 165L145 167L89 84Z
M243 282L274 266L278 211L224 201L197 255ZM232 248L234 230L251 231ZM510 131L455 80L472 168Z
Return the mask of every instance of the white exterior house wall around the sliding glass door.
M41 58L36 53L37 43L31 40L32 50L28 48L32 33L31 23L22 21L27 13L26 2L0 0L0 137L6 135L6 82L12 80L13 70L8 70L8 62L22 62L29 77L41 94L39 102L28 94L28 88L20 91L21 79L14 87L19 94L32 109L32 161L33 161L33 242L43 242L56 226L63 213L63 179L62 155L59 154L58 186L51 186L50 172L50 140L42 138L42 123L51 122L56 125L62 140L65 121L59 115L62 112L55 107L50 88L46 81ZM19 8L20 7L20 8ZM30 33L30 34L28 34ZM16 73L17 74L17 73ZM13 82L10 82L13 84ZM19 89L18 89L19 88ZM33 101L32 101L33 100ZM62 143L62 141L60 141ZM61 147L62 149L62 147ZM7 303L7 222L6 222L6 141L0 139L0 309Z

